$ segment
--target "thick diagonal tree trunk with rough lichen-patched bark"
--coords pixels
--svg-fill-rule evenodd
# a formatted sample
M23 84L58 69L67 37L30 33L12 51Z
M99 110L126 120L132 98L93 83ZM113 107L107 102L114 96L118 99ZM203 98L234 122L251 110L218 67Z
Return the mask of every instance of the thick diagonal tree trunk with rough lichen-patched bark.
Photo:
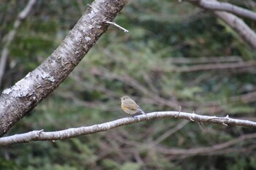
M37 69L0 96L0 136L55 90L107 30L128 0L95 0L64 41Z

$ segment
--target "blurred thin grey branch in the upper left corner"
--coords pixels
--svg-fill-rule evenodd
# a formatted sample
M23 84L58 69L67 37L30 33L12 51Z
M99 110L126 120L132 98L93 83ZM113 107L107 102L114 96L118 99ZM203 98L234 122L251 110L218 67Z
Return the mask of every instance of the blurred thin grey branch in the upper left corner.
M12 31L9 32L7 35L7 40L4 45L4 49L1 51L1 59L0 59L0 85L2 82L2 77L4 75L4 69L5 65L7 63L7 57L9 55L9 47L12 42L12 40L15 38L17 29L20 27L20 24L22 21L29 15L29 12L31 11L33 5L35 4L36 0L30 0L28 4L26 4L26 7L21 11L16 18L14 24L13 24L13 29Z

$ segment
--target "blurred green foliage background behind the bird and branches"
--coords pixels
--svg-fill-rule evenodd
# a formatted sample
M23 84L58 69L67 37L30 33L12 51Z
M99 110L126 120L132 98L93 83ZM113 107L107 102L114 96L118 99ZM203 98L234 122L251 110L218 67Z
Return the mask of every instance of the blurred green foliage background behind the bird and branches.
M1 46L26 2L2 2ZM89 3L38 1L12 42L1 89L47 58ZM225 63L223 57L255 61L253 51L214 15L185 2L138 0L130 1L115 22L129 34L110 26L67 80L7 135L58 131L125 117L119 101L124 94L146 112L181 106L184 112L255 120L256 100L249 96L256 90L254 68L191 71L203 64ZM255 29L255 24L246 22ZM205 63L200 63L202 58ZM255 130L204 126L164 119L64 141L15 144L1 148L0 169L256 168L255 139L239 138Z

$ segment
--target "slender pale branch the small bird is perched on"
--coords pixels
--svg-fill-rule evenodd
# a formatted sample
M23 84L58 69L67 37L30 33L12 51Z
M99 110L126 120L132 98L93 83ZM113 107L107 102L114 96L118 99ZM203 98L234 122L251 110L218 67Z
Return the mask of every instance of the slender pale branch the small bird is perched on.
M31 142L31 141L54 141L54 140L62 140L69 139L76 136L87 135L87 134L95 134L101 131L108 131L112 128L117 128L121 125L128 125L132 123L138 123L146 120L154 120L156 118L181 118L187 119L192 122L200 122L200 123L216 123L219 125L243 125L247 127L256 128L256 122L252 122L249 120L239 120L228 117L216 117L216 116L206 116L206 115L197 115L195 113L187 113L187 112L151 112L147 115L138 115L135 117L124 117L118 120L113 120L107 123L101 123L97 125L91 125L87 127L80 128L69 128L62 131L50 131L45 132L43 130L40 131L30 131L25 134L15 134L13 136L6 136L0 138L0 146Z

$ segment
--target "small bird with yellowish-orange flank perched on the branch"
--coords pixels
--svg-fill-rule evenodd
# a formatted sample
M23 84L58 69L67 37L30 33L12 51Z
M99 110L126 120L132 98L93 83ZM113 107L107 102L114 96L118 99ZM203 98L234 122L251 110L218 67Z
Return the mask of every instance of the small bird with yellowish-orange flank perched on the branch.
M145 112L136 104L132 98L129 98L129 96L123 96L121 97L121 108L129 115L135 115L135 113L142 113L143 115L146 115Z

